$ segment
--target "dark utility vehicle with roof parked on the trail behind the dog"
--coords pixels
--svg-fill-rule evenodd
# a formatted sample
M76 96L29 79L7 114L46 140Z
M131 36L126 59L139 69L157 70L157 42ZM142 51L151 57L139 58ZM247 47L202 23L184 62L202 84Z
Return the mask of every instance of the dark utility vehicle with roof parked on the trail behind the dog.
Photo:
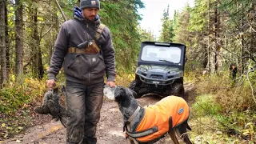
M167 42L142 42L135 79L129 88L137 93L183 97L186 46Z

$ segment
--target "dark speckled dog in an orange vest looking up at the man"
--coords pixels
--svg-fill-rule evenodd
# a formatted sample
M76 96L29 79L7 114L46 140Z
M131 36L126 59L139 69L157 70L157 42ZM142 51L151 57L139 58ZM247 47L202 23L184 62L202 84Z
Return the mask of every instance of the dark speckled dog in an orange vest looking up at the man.
M126 138L131 144L154 143L166 133L170 134L174 144L179 143L175 134L186 144L192 144L186 134L186 129L191 130L187 123L189 106L183 98L168 96L155 105L141 107L134 98L136 93L129 88L105 87L103 92L107 98L118 102Z

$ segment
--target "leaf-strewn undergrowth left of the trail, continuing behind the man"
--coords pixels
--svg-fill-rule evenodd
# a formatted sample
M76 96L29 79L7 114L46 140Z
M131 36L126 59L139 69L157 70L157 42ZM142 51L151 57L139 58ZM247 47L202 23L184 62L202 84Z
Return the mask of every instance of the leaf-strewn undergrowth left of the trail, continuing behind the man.
M133 78L133 74L121 72L116 78L116 85L129 86ZM57 82L57 86L61 85L65 85L62 71L58 74ZM0 90L0 143L30 126L36 115L34 107L41 105L46 90L46 78L42 80L25 78L22 85L18 82L9 82Z

